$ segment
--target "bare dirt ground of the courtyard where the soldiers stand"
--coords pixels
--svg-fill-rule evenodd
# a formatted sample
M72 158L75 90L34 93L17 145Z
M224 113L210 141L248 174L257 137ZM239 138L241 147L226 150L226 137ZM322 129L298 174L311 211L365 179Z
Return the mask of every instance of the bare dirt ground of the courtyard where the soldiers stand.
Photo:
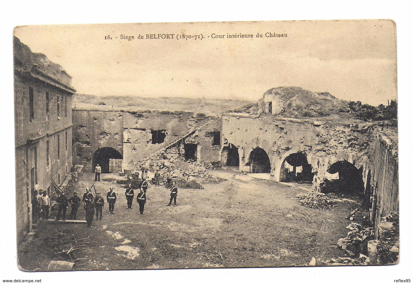
M176 207L166 206L169 190L150 186L145 215L139 215L136 200L133 209L126 209L125 189L114 180L96 182L105 201L114 186L115 214L108 214L105 203L103 220L88 229L85 223L40 222L19 248L21 268L47 270L50 260L62 259L42 245L43 238L59 231L90 239L90 249L78 257L90 259L87 269L93 270L300 266L311 257L345 256L337 240L347 235L351 221L344 217L359 203L337 202L331 210L307 208L294 199L303 192L297 186L229 170L210 172L227 181L204 184L201 190L179 189ZM75 190L82 196L93 178L91 173L79 175L66 194ZM78 219L84 219L84 213L79 210Z

